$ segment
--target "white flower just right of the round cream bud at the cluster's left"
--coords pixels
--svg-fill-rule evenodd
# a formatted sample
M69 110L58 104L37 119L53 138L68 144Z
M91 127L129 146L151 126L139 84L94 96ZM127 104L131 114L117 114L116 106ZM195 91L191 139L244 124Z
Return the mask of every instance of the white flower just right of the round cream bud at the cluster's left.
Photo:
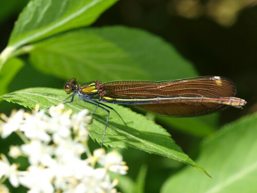
M38 140L33 140L30 144L22 145L21 150L24 154L28 155L31 165L42 163L48 166L52 161L51 155L53 154L53 148Z

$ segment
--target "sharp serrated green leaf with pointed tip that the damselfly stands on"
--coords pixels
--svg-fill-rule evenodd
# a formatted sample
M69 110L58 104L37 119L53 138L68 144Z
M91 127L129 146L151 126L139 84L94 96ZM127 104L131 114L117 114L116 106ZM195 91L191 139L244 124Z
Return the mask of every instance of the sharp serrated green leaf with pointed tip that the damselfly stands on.
M2 99L19 103L22 106L29 108L33 108L36 103L39 103L41 109L48 108L52 104L63 102L63 99L66 97L67 94L62 90L42 87L24 89L1 96ZM155 153L188 164L208 175L203 168L195 164L188 155L183 153L181 148L175 144L166 130L128 108L114 104L108 105L115 108L125 121L133 122L124 125L121 119L114 112L111 112L111 118L109 119L108 128L104 138L105 146L115 148L124 148L128 146L149 153ZM81 100L65 104L65 106L72 109L74 112L78 112L82 109L89 109L92 111L95 108ZM101 142L105 121L105 111L101 111L100 109L94 114L90 136L98 143Z

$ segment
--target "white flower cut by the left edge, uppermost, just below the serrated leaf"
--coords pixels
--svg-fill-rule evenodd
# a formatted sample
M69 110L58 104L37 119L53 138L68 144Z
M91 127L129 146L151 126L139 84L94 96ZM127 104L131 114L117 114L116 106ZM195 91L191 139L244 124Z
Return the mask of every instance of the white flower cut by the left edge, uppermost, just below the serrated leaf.
M19 111L12 110L10 117L8 118L5 114L1 114L0 117L4 120L0 124L1 137L6 138L12 132L19 129L23 121L24 110L20 109Z

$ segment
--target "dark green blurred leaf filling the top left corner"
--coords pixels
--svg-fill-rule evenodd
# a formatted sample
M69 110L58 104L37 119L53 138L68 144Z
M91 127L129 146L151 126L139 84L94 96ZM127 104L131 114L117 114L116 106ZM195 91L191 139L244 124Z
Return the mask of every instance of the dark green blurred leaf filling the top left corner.
M0 1L0 23L19 13L28 0Z

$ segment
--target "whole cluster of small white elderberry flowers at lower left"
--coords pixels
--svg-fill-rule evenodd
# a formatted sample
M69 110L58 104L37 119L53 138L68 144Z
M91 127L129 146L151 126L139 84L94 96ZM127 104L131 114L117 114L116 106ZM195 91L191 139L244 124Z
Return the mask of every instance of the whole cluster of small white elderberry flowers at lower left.
M4 189L1 192L9 192L3 184L7 179L13 187L27 187L29 193L117 192L118 180L112 181L108 172L126 174L128 167L117 151L105 153L100 148L93 155L90 153L88 111L71 115L60 104L49 109L49 116L38 109L32 113L12 111L10 117L1 114L1 137L7 138L15 132L24 142L11 146L8 155L13 159L26 156L29 162L28 168L20 171L18 163L11 164L1 154L0 188ZM87 159L82 159L84 154Z

